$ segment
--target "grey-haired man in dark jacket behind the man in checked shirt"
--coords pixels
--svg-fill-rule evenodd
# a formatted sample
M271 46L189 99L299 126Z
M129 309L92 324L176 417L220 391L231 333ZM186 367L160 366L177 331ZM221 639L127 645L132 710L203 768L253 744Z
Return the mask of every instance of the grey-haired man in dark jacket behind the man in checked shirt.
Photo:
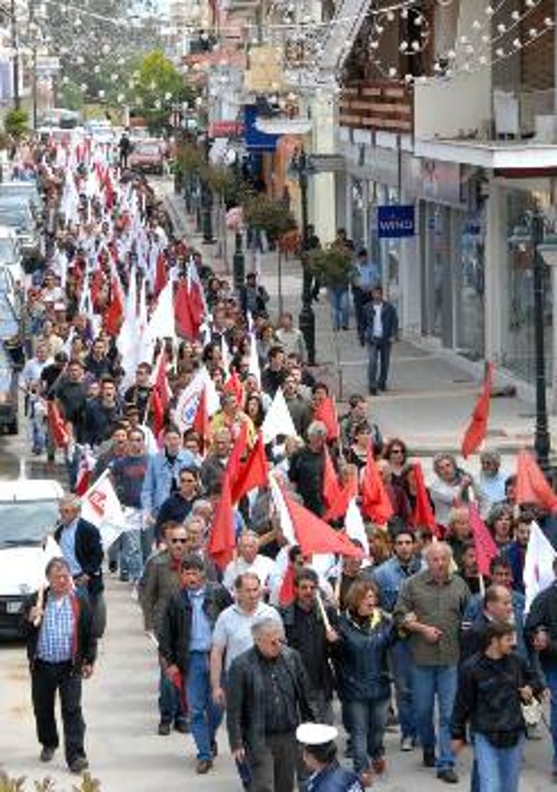
M75 495L61 498L59 510L60 522L55 531L55 539L68 563L76 588L89 597L95 635L100 638L106 627L100 532L92 522L79 516L81 502Z

